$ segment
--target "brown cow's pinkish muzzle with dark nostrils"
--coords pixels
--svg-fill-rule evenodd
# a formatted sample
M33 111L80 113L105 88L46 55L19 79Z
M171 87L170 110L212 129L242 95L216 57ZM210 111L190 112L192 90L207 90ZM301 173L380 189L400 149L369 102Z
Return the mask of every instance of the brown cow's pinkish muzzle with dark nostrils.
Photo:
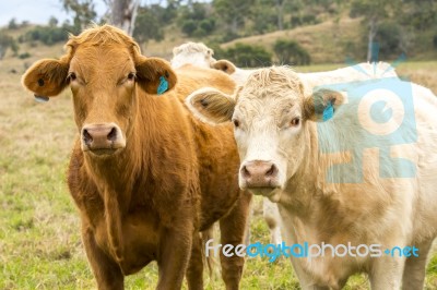
M82 150L96 155L110 155L126 146L126 138L115 123L84 125L81 137Z

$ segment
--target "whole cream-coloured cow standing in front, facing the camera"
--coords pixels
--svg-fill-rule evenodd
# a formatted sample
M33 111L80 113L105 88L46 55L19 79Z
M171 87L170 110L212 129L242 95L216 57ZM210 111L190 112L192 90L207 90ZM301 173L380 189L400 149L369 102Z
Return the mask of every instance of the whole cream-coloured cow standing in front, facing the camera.
M341 289L359 271L373 289L423 289L437 235L437 98L367 81L338 86L347 95L311 92L273 67L232 96L202 88L186 100L203 120L234 122L240 188L277 203L288 245L311 246L291 257L303 289Z

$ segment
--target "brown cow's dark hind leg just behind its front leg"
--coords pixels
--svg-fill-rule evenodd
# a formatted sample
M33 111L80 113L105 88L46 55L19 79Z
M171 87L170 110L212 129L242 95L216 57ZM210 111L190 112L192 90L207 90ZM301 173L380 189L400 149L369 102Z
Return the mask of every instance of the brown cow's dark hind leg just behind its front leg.
M188 289L203 289L202 239L198 232L192 238L191 257L187 269Z

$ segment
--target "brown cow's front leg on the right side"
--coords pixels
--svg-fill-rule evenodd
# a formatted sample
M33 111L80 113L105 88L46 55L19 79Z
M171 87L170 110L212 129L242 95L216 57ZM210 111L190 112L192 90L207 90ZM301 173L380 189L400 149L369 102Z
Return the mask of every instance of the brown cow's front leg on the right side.
M158 282L156 289L180 289L192 249L192 226L174 225L163 229L157 256Z

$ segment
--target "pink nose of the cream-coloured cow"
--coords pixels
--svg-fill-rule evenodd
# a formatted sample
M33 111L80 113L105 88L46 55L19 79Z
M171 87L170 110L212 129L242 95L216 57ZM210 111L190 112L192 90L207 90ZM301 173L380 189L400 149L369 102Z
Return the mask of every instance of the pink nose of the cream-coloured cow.
M277 167L270 161L247 161L241 167L241 178L248 188L274 188L277 180Z

